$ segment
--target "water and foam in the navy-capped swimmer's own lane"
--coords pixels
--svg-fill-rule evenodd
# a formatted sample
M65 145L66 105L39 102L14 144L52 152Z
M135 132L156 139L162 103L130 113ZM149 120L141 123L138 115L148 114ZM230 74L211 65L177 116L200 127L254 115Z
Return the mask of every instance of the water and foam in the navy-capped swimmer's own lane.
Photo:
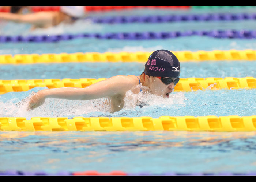
M174 92L168 99L152 94L127 94L125 107L110 113L109 107L103 107L105 98L89 101L70 101L63 99L46 99L45 103L32 111L27 111L27 100L22 105L16 103L28 97L32 92L47 87L36 87L27 92L9 92L0 96L0 116L2 117L140 117L150 116L251 116L256 111L256 90L218 90ZM140 108L138 100L147 103Z

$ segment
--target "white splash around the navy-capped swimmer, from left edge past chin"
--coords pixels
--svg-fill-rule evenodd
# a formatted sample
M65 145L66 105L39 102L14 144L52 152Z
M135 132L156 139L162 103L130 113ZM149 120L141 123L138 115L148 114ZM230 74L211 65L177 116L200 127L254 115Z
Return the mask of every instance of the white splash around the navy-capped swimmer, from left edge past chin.
M162 96L151 94L147 87L140 87L143 92L139 94L134 94L131 90L127 91L124 98L124 108L116 113L110 113L111 106L109 98L86 101L48 98L45 99L45 103L41 106L28 111L29 97L35 94L35 92L42 90L42 87L39 87L40 89L33 88L32 91L27 92L7 93L1 96L0 117L110 117L124 116L125 113L130 113L135 116L140 114L141 108L164 108L177 104L185 105L184 100L186 98L182 92L170 94L169 98L163 98ZM20 93L23 94L20 95ZM5 97L5 99L3 99L3 97Z

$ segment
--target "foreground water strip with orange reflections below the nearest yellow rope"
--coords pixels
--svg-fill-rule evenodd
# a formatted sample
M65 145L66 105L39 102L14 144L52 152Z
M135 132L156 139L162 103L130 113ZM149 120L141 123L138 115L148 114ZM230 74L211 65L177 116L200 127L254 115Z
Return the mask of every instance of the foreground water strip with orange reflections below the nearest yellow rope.
M255 171L255 132L14 131L0 136L0 171Z

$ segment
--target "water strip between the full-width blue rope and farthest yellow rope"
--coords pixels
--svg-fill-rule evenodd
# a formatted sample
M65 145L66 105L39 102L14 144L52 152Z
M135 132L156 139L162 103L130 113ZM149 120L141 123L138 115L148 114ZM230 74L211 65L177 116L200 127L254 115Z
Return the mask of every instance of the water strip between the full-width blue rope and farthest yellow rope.
M255 24L256 27L256 24ZM209 44L210 42L210 44ZM94 46L97 45L97 46ZM73 39L57 43L5 43L1 45L1 54L46 54L74 52L135 52L166 49L172 51L212 51L255 49L254 39L217 39L211 37L179 37L163 40L105 40Z

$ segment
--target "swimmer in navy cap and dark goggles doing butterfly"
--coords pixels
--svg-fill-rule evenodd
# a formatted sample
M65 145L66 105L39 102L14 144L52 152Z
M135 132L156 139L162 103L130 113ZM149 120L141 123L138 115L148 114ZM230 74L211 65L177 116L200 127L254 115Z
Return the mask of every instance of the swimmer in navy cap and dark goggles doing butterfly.
M38 91L29 99L28 110L37 108L45 102L46 98L59 98L68 100L92 100L110 98L111 111L120 111L124 107L124 98L128 90L139 94L142 89L148 90L157 96L169 98L180 76L180 62L176 56L167 50L154 51L145 64L145 70L139 76L117 75L101 82L94 83L85 88L52 88Z

